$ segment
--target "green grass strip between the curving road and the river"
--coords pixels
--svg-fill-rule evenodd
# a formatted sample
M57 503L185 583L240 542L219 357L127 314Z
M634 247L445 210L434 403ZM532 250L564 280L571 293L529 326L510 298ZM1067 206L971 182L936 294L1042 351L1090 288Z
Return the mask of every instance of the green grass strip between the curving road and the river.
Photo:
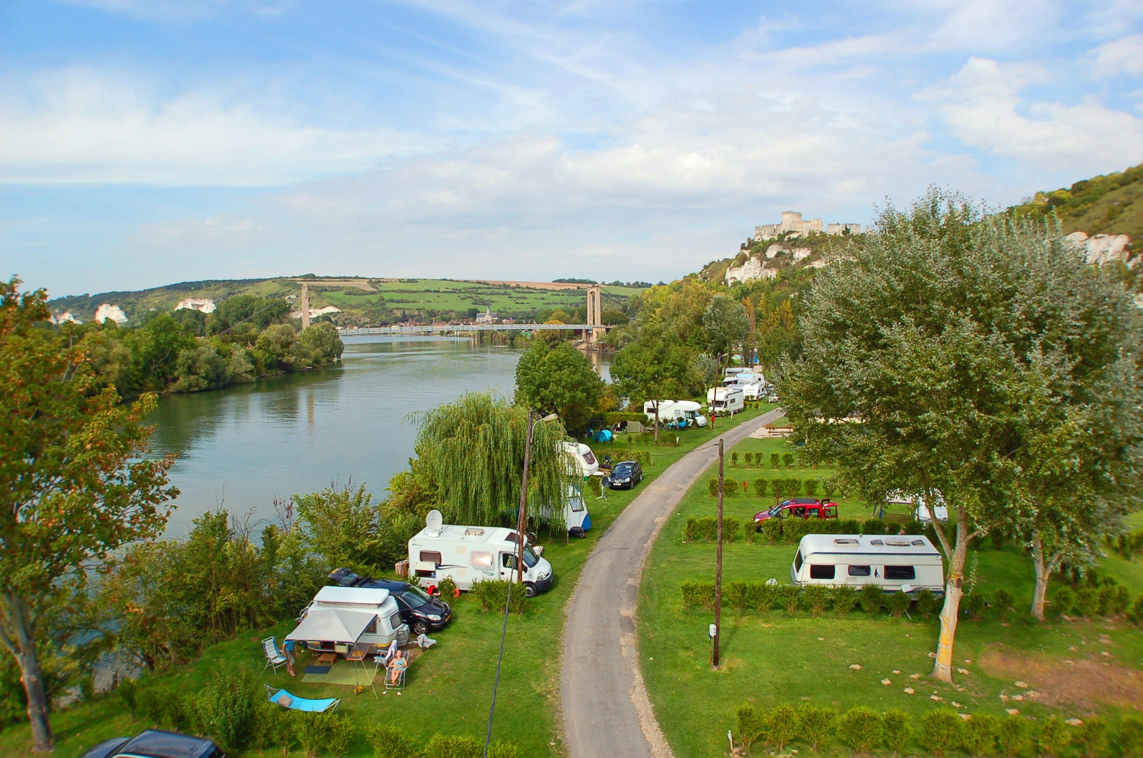
M759 410L738 414L733 421L719 419L718 432L725 432L770 408L764 404ZM623 436L620 435L621 438ZM701 429L684 432L678 436L678 447L626 445L622 441L612 444L591 443L599 458L610 453L614 461L622 460L626 450L650 450L654 463L645 467L645 483L633 491L610 491L607 500L589 500L592 530L586 538L572 540L566 545L562 539L546 541L544 557L552 563L555 583L551 591L530 604L526 616L510 618L493 737L517 742L521 757L562 755L558 718L563 607L589 553L642 486L680 455L710 441L714 433ZM233 670L245 667L251 671L261 671L264 658L258 640L271 634L280 640L291 628L293 624L283 623L272 629L241 634L235 639L211 646L200 660L165 674L161 679L171 691L194 693L219 668ZM374 699L368 690L353 694L352 687L303 684L299 678L290 679L283 668L277 675L266 671L259 678L275 687L287 687L303 697L343 697L341 712L351 715L359 727L351 756L371 756L371 750L365 742L365 728L377 723L394 724L405 728L409 735L421 734L425 739L435 732L482 737L491 699L499 634L499 614L483 613L467 596L462 596L456 603L453 623L433 635L439 644L409 669L409 685L401 696L390 693ZM304 666L305 659L299 663ZM377 687L381 688L379 680ZM53 716L53 725L57 736L54 755L59 758L79 756L102 740L135 734L149 726L131 724L126 708L114 695L101 696L90 704L57 712ZM25 725L0 732L0 755L29 755L30 748Z

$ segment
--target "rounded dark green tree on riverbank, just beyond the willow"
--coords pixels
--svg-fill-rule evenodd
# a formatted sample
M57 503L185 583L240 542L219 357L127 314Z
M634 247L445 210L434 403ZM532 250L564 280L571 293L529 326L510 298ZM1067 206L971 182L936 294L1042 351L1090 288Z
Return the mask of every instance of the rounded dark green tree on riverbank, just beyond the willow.
M515 364L517 404L542 416L557 413L565 425L589 418L602 394L604 380L591 360L568 342L533 340Z

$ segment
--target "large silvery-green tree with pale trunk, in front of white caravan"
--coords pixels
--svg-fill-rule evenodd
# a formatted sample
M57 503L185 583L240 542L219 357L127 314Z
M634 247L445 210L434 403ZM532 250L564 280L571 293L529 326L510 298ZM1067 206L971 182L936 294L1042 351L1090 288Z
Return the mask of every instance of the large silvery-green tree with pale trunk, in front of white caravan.
M930 509L940 497L948 502L954 518L934 519L948 557L940 679L952 678L968 545L1021 521L1029 479L1018 461L1033 454L1025 436L1057 430L1040 425L1030 401L1045 371L1037 356L1135 382L1118 363L1119 355L1134 362L1133 344L1097 338L1088 354L1072 338L1105 323L1089 315L1104 307L1087 299L1093 293L1114 295L1121 309L1122 296L1098 277L1057 232L982 218L962 196L934 190L908 213L886 210L877 234L814 280L799 323L802 355L783 382L788 416L807 453L836 459L839 482L866 501L903 490ZM1073 329L1076 321L1084 325ZM1111 357L1109 346L1124 352ZM1082 416L1079 405L1100 403L1058 397L1064 417L1068 405ZM862 424L825 422L854 416ZM1117 454L1129 459L1125 449Z

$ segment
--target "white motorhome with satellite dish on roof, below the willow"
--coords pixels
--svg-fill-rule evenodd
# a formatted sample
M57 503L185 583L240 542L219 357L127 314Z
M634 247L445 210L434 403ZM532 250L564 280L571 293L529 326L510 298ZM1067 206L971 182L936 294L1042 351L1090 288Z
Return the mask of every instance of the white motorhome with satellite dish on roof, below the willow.
M439 584L446 576L458 589L472 589L483 579L517 579L520 537L503 526L454 526L441 523L430 510L425 527L409 540L409 581L422 587ZM552 564L539 557L541 548L523 548L525 595L546 592L552 586Z

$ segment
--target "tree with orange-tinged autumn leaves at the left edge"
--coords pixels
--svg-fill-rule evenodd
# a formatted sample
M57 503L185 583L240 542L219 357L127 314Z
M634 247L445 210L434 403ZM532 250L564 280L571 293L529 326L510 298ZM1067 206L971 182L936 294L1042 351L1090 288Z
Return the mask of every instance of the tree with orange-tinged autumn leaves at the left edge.
M16 659L34 750L53 748L37 630L67 582L159 533L173 459L147 459L153 395L121 405L85 356L37 329L43 290L0 284L0 642ZM176 324L177 326L177 324Z

